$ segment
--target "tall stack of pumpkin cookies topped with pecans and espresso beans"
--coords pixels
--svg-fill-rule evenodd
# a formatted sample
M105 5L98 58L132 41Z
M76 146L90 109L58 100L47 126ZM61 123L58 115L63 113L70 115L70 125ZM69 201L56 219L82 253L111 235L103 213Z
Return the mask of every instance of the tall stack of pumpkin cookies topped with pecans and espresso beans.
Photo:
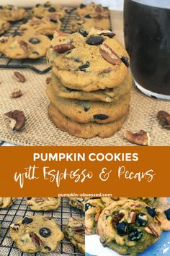
M53 123L77 137L114 135L129 111L128 58L109 30L56 32L47 54L52 67L48 114Z

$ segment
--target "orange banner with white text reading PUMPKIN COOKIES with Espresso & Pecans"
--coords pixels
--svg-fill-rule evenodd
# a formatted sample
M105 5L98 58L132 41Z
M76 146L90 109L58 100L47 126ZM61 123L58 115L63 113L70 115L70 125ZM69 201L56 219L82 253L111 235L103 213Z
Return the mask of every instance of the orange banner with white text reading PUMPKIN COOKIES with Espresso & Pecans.
M170 196L170 147L1 147L0 153L1 197Z

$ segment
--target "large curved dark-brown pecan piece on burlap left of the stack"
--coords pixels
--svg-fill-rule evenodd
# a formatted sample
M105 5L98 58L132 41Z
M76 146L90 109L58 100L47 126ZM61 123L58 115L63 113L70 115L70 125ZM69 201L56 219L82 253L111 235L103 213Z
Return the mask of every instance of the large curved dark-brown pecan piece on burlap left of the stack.
M9 111L5 116L8 116L9 119L11 119L10 126L12 127L12 130L19 132L24 127L25 116L23 111Z

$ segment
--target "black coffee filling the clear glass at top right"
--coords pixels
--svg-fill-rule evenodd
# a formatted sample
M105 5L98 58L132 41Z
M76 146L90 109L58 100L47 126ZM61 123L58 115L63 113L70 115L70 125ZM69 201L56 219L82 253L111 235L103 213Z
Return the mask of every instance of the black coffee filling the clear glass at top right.
M170 95L170 1L166 9L125 0L124 33L136 82Z

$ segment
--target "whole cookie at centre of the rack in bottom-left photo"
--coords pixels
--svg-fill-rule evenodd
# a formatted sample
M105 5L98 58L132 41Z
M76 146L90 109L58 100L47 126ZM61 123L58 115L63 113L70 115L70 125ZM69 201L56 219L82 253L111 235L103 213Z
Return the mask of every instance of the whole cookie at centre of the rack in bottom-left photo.
M64 235L54 219L27 216L10 226L12 240L22 252L53 252Z

